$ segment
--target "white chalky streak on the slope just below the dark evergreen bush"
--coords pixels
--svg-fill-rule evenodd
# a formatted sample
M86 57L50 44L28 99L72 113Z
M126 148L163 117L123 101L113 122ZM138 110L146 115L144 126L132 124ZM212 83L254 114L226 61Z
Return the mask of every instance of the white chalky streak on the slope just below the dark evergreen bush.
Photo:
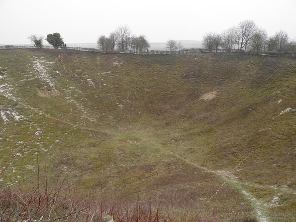
M52 90L56 90L54 80L48 73L48 66L51 66L52 64L54 64L54 62L48 62L43 57L34 56L34 61L32 63L34 72L37 74L37 77L40 80L47 82Z

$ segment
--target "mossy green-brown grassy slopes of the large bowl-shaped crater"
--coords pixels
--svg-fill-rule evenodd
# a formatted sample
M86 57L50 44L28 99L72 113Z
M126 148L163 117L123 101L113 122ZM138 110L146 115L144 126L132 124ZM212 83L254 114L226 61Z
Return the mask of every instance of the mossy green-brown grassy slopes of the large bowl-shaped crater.
M33 56L54 62L48 73L60 96L38 96L48 84L36 78ZM294 58L7 50L0 51L0 66L8 68L0 84L8 81L18 98L0 95L1 110L26 117L0 121L1 166L37 128L79 113L35 138L3 179L35 175L38 152L52 180L67 172L79 190L102 184L110 198L154 197L170 203L172 211L202 207L205 216L213 209L246 212L252 202L231 182L210 199L223 177L197 165L227 173L251 152L231 172L239 189L266 204L272 221L294 220L295 112L279 115L296 109ZM200 100L213 91L214 99ZM275 196L279 206L271 206Z

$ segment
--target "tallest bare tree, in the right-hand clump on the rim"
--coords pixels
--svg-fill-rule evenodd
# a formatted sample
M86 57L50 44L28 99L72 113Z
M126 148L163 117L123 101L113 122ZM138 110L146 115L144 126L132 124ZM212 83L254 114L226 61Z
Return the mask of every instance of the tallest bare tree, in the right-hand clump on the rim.
M240 50L247 50L251 36L257 30L257 25L252 20L241 21L235 29L237 45Z

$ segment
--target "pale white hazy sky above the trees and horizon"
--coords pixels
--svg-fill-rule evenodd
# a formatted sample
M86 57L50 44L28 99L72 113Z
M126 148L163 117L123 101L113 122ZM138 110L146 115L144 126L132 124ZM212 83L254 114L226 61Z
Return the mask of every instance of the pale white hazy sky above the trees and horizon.
M66 43L95 43L122 24L150 42L201 40L245 19L296 39L295 9L296 0L0 0L0 43L54 32Z

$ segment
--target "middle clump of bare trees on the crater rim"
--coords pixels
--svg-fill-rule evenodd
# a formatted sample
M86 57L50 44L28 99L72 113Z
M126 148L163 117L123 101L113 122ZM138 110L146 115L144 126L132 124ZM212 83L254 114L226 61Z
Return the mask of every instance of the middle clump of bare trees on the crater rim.
M133 35L127 25L117 27L107 37L105 35L99 36L97 43L102 51L117 49L122 52L142 53L150 47L145 35Z

